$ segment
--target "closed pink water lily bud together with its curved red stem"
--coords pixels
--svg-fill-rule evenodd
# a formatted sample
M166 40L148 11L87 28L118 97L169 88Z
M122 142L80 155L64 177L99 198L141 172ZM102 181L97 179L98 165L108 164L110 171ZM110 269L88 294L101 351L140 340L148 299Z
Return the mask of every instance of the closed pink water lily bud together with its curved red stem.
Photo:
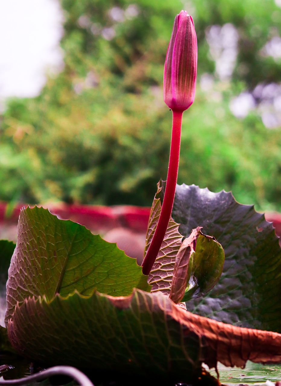
M164 66L164 102L173 112L172 138L162 210L142 264L146 275L152 269L172 213L179 169L182 113L194 101L196 75L197 38L194 23L186 11L181 11L175 17Z

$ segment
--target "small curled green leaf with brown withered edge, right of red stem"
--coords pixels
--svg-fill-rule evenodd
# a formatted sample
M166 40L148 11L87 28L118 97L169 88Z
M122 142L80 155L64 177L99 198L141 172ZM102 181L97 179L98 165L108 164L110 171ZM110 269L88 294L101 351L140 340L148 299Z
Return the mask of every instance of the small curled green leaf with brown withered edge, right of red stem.
M223 248L201 229L193 229L177 253L169 295L175 303L205 295L221 276L225 261Z

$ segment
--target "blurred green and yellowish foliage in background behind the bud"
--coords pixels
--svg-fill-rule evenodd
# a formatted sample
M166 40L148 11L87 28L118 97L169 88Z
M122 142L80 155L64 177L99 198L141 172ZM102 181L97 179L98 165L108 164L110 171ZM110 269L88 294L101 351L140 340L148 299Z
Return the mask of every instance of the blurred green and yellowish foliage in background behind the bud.
M172 114L162 100L174 17L186 9L198 35L198 87L184 113L178 183L232 190L242 203L281 210L281 133L233 97L279 82L281 61L261 54L281 33L273 0L61 0L65 67L36 98L13 99L0 117L0 199L151 205L165 179ZM117 20L118 19L118 20ZM206 31L232 23L232 77L215 72ZM213 76L211 88L201 76Z

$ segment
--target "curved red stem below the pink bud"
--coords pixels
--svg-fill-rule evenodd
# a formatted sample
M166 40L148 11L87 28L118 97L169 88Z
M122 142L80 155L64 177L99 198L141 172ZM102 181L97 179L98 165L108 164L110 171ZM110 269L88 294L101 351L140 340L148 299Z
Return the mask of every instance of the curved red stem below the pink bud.
M173 111L172 139L170 148L169 167L163 204L152 240L143 259L143 274L148 275L161 248L172 213L177 172L179 169L179 153L181 146L182 111Z

